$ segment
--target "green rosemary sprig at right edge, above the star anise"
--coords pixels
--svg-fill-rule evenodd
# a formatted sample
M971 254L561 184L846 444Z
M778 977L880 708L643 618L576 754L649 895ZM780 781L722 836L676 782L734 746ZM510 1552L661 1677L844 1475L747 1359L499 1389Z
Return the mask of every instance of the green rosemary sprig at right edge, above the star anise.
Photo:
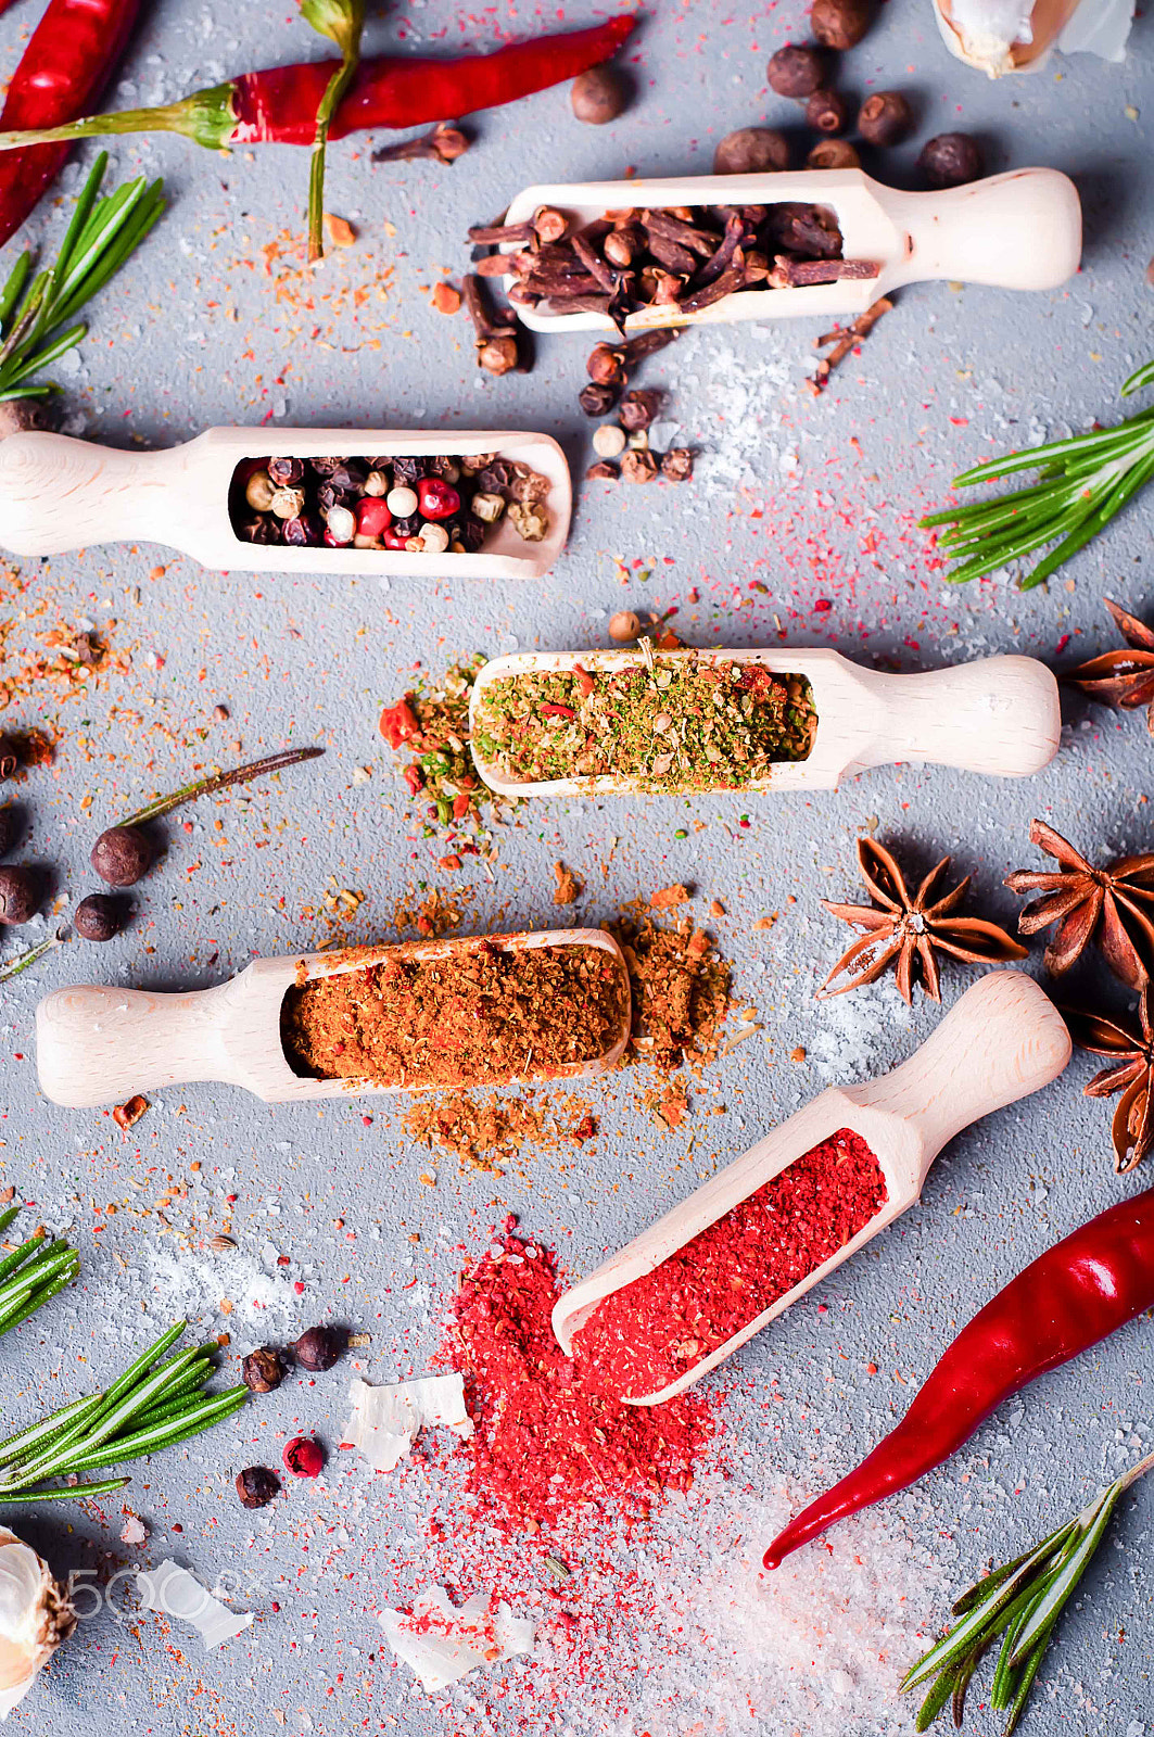
M1154 384L1154 361L1147 361L1123 384L1123 398ZM1154 476L1154 408L1112 429L1091 429L1072 439L1055 439L1005 459L991 459L954 478L954 488L996 483L1017 471L1041 471L1041 479L1011 495L944 507L921 519L923 530L947 525L938 547L958 563L945 575L952 585L1022 561L1036 549L1060 538L1043 561L1020 580L1032 591L1078 554L1104 530L1116 512Z

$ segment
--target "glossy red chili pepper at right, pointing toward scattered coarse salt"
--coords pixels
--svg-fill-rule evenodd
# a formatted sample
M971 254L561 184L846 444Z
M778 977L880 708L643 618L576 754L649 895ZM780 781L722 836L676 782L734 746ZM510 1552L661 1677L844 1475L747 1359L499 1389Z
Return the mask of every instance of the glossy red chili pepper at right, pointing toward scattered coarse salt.
M836 1520L907 1489L1001 1400L1154 1308L1154 1188L1098 1212L1032 1261L958 1334L900 1424L765 1553L777 1569Z

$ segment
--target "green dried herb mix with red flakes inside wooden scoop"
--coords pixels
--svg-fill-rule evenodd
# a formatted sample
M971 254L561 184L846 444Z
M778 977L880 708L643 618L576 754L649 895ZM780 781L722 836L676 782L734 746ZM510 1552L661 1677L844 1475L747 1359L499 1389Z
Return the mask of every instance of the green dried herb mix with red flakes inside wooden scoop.
M615 669L506 676L481 688L476 749L504 778L631 778L653 790L740 790L808 756L803 676L693 653Z

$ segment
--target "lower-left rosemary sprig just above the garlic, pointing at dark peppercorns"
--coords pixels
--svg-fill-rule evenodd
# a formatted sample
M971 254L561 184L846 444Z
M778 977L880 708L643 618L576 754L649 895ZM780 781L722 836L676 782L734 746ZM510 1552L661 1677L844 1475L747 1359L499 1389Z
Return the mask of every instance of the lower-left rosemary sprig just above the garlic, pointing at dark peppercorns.
M186 1442L231 1417L249 1398L249 1388L203 1391L214 1374L216 1344L188 1346L167 1364L153 1367L186 1325L188 1322L177 1320L169 1327L103 1393L73 1400L0 1442L0 1504L64 1501L120 1490L129 1478L71 1483L64 1489L42 1485L47 1478L158 1454L163 1447Z

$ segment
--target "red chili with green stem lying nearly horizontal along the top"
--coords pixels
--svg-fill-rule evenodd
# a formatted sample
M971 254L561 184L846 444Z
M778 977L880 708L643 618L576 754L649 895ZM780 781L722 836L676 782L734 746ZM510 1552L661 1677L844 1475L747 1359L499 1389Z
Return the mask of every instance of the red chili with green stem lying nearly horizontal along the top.
M54 0L56 3L56 0ZM113 0L59 0L70 10L113 9ZM513 42L492 54L459 59L398 59L370 56L360 63L348 96L328 129L330 139L374 127L424 127L445 115L471 115L499 108L549 85L577 78L620 49L634 17L612 17L591 30ZM36 33L38 35L38 33ZM35 38L33 38L35 40ZM70 127L52 127L52 141L90 139L116 132L181 132L219 151L228 144L313 144L316 106L339 61L306 61L242 73L224 85L195 90L165 108L90 115ZM75 113L75 106L71 108ZM40 116L31 116L35 125ZM28 125L24 122L23 125ZM0 149L23 146L23 137L0 134Z

